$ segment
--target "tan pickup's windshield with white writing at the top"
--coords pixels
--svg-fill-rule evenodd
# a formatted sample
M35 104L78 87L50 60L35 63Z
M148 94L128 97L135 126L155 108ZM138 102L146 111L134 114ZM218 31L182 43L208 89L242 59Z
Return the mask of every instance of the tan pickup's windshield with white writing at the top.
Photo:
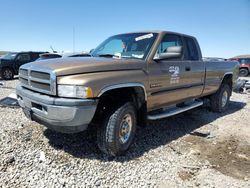
M145 59L156 36L156 33L115 35L100 44L91 55L117 59Z

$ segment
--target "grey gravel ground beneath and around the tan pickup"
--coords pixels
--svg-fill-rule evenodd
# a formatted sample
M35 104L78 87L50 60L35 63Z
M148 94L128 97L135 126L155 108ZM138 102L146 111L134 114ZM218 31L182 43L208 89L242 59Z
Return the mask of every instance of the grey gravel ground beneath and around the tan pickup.
M227 112L150 122L125 156L110 158L90 131L56 133L0 107L0 187L250 187L249 114L250 94L234 93Z

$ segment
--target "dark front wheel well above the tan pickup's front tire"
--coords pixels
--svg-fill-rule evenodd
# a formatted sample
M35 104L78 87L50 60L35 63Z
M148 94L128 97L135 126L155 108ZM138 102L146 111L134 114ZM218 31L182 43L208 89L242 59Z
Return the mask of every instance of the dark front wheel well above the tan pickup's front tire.
M138 120L146 118L145 91L142 87L125 87L106 91L99 97L95 120L101 120L126 102L132 102L137 110Z

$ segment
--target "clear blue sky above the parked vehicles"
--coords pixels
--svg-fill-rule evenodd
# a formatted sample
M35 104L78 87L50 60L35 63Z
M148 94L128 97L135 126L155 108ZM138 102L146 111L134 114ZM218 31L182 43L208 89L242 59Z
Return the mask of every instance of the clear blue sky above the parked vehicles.
M143 30L195 36L204 57L250 54L250 0L0 0L0 51L89 51Z

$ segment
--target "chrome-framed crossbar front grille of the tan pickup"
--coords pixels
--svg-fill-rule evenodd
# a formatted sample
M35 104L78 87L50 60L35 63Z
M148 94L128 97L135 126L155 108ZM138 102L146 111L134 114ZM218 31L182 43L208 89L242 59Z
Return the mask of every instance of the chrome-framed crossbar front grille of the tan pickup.
M55 74L50 69L25 64L19 70L19 81L30 90L56 95Z

